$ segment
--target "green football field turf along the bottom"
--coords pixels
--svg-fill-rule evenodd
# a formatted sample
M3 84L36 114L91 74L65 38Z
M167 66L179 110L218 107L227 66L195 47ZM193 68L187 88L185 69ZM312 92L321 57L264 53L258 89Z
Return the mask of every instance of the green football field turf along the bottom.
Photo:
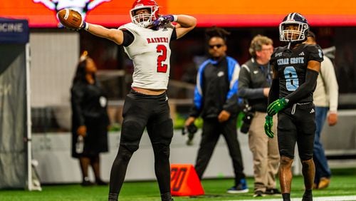
M336 201L336 200L356 200L356 168L332 170L333 177L330 186L324 190L313 190L315 201ZM281 196L266 196L256 199L253 195L253 178L248 177L249 192L237 195L226 193L226 189L233 184L232 179L203 180L202 185L205 195L198 197L174 197L174 201L190 200L281 200ZM0 190L1 201L16 200L36 200L36 201L56 201L56 200L108 200L108 186L81 187L74 185L43 185L41 192L28 192L25 190ZM292 182L292 200L301 200L303 195L303 177L294 176ZM159 201L159 191L157 183L150 182L125 182L120 200L142 200Z

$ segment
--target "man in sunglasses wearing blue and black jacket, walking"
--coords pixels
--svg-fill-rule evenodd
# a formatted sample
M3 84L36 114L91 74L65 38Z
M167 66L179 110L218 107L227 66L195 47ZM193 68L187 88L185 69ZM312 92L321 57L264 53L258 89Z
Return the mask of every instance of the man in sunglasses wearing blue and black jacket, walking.
M241 193L248 192L248 187L236 131L240 66L234 58L226 56L226 36L228 35L228 31L219 27L206 29L211 58L199 67L197 86L194 91L194 105L185 126L192 125L199 115L204 119L195 165L199 179L206 170L220 134L224 136L235 173L235 185L227 192Z

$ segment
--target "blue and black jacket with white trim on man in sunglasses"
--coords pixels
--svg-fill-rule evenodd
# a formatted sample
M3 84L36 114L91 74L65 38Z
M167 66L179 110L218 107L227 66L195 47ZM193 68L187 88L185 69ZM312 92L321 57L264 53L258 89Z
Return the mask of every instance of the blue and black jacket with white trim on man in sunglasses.
M216 118L221 110L237 115L239 98L239 63L229 56L214 61L208 59L199 67L194 90L191 116Z

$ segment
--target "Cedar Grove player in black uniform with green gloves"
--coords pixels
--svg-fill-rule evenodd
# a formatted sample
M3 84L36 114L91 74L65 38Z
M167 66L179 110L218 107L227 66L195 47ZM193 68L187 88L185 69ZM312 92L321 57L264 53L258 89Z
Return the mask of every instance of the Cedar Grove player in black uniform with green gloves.
M265 131L273 138L272 116L278 113L278 149L281 155L279 180L283 200L290 200L292 163L295 143L303 165L305 192L303 201L313 200L315 176L313 142L315 108L313 91L323 61L318 45L307 45L308 21L300 14L290 13L279 25L280 41L288 46L278 47L271 56L273 81L268 96Z

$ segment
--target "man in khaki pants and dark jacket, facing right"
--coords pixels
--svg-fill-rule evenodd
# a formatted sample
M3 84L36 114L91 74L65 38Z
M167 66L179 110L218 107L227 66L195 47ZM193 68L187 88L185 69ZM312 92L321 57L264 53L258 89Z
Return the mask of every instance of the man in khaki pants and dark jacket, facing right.
M272 81L272 69L269 65L273 53L273 41L266 36L253 37L248 48L252 58L241 66L239 75L239 96L245 98L251 108L248 130L248 146L253 155L254 195L281 194L276 189L279 153L277 138L268 138L263 123L267 115L268 93ZM248 115L248 113L246 114ZM277 117L274 117L277 121ZM247 129L246 129L247 131ZM277 125L273 125L276 133Z

